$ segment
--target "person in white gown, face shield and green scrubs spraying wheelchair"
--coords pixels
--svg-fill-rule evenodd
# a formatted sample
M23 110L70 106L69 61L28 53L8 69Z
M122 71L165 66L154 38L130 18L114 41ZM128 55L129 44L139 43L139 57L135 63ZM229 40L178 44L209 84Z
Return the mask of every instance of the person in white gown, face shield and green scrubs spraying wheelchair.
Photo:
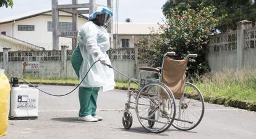
M100 87L103 92L114 89L114 71L106 65L111 65L106 51L109 50L109 34L106 25L113 12L106 7L96 9L90 16L89 22L79 30L79 44L74 50L71 63L79 82L92 66L79 87L79 121L96 122L103 118L96 115L96 101Z

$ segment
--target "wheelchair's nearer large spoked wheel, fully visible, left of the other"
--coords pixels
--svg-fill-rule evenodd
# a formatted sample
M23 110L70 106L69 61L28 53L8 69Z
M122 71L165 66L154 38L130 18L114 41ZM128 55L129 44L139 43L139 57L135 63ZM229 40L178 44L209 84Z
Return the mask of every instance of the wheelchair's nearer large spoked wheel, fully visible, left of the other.
M167 111L163 111L162 96L169 101L169 109L166 105ZM153 133L164 132L174 121L176 113L174 95L163 83L150 82L140 89L135 111L140 124L146 130Z

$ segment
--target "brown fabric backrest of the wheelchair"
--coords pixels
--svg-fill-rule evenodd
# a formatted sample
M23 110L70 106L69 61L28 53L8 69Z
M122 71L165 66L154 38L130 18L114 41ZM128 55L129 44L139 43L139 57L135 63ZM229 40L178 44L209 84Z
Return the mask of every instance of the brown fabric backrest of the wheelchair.
M161 73L161 82L166 84L174 94L175 98L181 98L184 92L185 71L187 60L173 60L164 57ZM162 95L162 98L164 96Z

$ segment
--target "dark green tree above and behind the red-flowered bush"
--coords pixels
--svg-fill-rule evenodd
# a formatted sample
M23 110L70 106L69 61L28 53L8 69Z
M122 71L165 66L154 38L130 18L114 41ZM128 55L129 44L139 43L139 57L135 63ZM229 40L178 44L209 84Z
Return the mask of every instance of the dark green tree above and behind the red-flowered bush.
M220 19L217 28L221 31L236 30L236 22L241 20L256 21L255 0L169 0L163 6L163 13L168 16L176 7L180 11L186 10L187 4L192 9L215 6L214 17Z

